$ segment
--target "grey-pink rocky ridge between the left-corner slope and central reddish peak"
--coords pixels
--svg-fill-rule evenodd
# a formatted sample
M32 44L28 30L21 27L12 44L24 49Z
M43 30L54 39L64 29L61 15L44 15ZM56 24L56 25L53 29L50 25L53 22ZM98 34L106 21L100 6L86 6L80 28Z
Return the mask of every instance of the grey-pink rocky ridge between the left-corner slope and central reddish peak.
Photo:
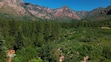
M46 7L41 7L41 6L38 6L38 5L33 5L33 4L30 4L30 3L25 3L25 7L27 9L27 11L35 16L35 17L38 17L38 18L46 18L46 19L51 19L51 12L52 10L50 8L46 8Z

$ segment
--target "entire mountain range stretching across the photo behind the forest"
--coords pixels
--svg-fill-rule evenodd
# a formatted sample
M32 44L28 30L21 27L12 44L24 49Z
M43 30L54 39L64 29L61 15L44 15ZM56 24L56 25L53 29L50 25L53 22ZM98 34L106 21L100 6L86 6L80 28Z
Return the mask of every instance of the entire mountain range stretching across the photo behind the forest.
M25 16L32 19L103 20L110 18L111 6L107 8L96 8L92 11L74 11L67 6L50 9L31 3L24 3L22 0L0 0L0 14L9 14L17 17Z

